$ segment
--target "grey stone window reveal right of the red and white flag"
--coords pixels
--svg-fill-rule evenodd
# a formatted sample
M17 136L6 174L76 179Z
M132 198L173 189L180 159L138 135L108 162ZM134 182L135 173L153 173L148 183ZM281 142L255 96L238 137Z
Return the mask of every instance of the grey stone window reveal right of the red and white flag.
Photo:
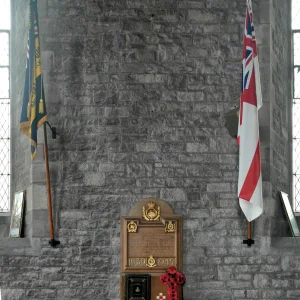
M291 60L291 19L289 1L273 1L271 7L271 182L273 198L278 199L278 190L292 195L292 71ZM288 80L286 80L288 79ZM277 201L279 203L279 201ZM282 207L273 209L275 219L281 218Z

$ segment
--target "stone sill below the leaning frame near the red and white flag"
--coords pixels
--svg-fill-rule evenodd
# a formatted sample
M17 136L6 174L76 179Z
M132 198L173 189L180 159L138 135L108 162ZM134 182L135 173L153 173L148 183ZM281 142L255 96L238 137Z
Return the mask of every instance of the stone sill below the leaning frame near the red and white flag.
M300 255L300 237L272 237L271 252L276 255Z

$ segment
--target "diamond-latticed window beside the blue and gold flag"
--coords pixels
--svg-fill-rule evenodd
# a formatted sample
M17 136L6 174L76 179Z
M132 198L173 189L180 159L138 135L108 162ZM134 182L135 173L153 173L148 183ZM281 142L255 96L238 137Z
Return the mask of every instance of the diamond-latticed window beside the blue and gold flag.
M1 0L0 2L0 213L10 211L9 40L10 40L10 0Z

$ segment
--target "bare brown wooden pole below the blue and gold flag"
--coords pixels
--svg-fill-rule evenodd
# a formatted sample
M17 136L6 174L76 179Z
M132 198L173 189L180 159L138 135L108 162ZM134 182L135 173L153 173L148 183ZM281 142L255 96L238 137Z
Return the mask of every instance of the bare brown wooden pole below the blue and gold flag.
M46 181L47 181L47 194L48 194L48 215L49 215L49 223L50 223L49 244L52 247L55 247L56 245L60 244L60 241L54 239L46 122L44 123L44 155L45 155Z

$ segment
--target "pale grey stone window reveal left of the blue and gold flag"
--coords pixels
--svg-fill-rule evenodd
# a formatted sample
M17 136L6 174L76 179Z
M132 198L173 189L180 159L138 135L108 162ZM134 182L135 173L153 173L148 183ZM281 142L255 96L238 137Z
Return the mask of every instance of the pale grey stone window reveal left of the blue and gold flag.
M23 16L21 18L21 15ZM11 1L11 149L12 149L12 190L25 189L30 182L30 155L27 149L29 140L20 132L21 101L23 100L24 76L26 56L22 55L26 49L28 39L28 9L26 1Z

